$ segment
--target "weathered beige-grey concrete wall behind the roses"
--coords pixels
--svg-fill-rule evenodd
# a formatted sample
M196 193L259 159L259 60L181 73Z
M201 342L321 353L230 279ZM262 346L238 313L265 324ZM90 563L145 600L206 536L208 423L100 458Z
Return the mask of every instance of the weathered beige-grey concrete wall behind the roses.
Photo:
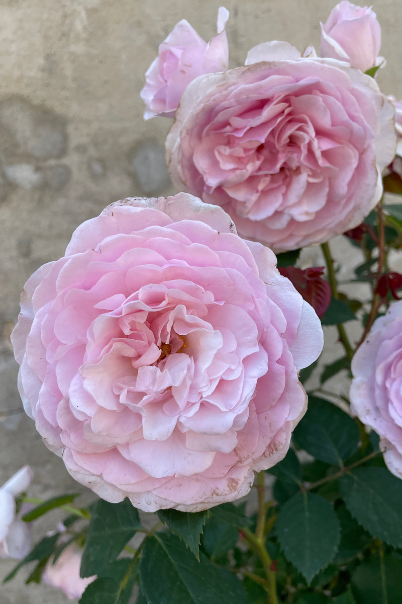
M284 39L319 50L319 21L334 0L228 0L231 66L252 46ZM139 91L157 47L186 18L209 40L218 0L0 0L0 484L25 463L31 493L77 490L21 412L9 335L30 274L63 255L74 228L105 205L173 192L164 161L170 120L142 120ZM378 83L402 98L402 11L377 0ZM78 487L80 489L80 487ZM52 528L49 516L43 528ZM4 576L11 564L0 564ZM23 576L24 573L21 573ZM0 586L2 604L67 602L20 578Z

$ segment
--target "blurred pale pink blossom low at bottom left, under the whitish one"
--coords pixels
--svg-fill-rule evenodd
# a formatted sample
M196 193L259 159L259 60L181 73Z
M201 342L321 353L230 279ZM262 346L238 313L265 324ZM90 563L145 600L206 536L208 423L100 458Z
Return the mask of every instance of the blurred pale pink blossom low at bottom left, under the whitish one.
M83 550L78 545L68 545L60 554L55 564L51 558L42 574L42 582L52 587L58 587L70 600L80 598L89 583L96 576L80 577L81 557Z

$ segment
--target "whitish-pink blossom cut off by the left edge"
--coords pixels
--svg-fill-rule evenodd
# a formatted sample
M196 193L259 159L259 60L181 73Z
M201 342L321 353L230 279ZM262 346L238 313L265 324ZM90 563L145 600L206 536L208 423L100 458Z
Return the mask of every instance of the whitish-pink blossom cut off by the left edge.
M0 558L20 559L30 551L31 527L21 519L30 506L24 504L17 513L15 499L28 489L32 478L30 466L24 466L0 487Z

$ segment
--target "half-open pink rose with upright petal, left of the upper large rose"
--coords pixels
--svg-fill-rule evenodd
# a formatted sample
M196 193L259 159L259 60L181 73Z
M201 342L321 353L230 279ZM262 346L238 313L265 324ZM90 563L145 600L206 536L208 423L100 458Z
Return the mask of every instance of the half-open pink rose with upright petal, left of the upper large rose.
M146 105L145 120L155 115L174 117L184 88L196 77L228 66L225 25L226 8L218 11L218 35L207 44L185 19L159 47L159 56L145 74L146 84L140 96Z

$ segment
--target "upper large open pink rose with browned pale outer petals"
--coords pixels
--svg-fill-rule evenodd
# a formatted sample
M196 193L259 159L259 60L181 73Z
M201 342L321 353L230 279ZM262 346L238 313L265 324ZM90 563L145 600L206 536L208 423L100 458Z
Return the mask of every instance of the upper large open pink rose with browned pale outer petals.
M187 86L166 141L174 183L277 252L360 224L395 155L391 103L371 77L286 42L247 63Z

